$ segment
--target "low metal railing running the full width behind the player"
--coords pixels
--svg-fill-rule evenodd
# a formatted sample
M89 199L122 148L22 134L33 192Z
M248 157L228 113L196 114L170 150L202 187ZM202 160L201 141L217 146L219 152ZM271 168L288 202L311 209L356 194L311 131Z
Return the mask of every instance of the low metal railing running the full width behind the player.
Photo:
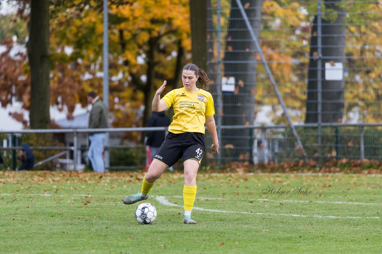
M331 159L382 160L382 124L322 124L322 155L318 155L317 124L296 125L308 159L318 161ZM211 156L211 141L206 134L206 153L202 167L230 165L241 162L247 165L274 161L304 160L304 155L296 147L295 135L290 126L221 126L222 131L240 133L239 138L246 139L241 147L224 145L220 147L221 157ZM15 169L19 166L16 152L21 145L28 143L35 155L35 169L40 170L86 170L89 169L87 158L89 132L110 133L110 145L105 150L110 152L108 170L143 169L146 150L139 142L131 142L129 133L144 135L145 131L165 131L165 127L150 128L110 128L110 129L53 129L23 130L15 132L0 131L3 146L0 147L5 163L1 169ZM237 138L237 135L235 136ZM34 142L34 143L33 143ZM236 151L240 149L240 155ZM175 170L183 170L181 160Z

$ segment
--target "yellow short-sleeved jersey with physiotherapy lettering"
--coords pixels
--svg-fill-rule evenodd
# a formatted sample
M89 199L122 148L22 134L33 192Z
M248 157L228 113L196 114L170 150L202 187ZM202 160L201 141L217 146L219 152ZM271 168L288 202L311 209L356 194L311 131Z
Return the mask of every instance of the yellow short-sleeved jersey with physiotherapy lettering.
M174 109L175 115L168 126L168 131L175 134L184 132L204 134L206 117L215 114L212 95L203 89L194 93L188 92L184 87L174 89L161 101L164 101L168 108L172 106Z

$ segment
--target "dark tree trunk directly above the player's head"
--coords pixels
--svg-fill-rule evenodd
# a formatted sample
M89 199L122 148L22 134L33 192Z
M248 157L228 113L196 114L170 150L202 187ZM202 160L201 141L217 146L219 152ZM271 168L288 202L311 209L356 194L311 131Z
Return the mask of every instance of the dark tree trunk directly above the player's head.
M205 0L191 0L192 59L200 69L207 68L207 5Z

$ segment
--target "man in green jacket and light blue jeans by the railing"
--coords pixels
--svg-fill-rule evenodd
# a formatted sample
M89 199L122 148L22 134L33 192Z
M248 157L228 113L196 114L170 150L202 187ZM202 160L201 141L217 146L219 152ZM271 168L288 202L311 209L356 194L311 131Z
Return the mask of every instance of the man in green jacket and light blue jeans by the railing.
M108 128L107 107L104 102L99 99L99 96L94 91L87 94L87 101L92 104L88 128ZM90 147L88 157L96 172L105 171L104 158L102 157L105 136L105 133L89 133Z

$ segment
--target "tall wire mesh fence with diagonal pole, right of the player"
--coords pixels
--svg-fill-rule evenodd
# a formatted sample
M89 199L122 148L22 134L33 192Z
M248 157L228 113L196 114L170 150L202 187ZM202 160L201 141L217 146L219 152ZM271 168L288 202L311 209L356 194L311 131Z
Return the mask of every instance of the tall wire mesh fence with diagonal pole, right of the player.
M247 158L248 137L265 136L262 145L274 150L263 160L299 159L301 145L305 159L380 159L368 152L379 149L379 127L364 123L382 121L381 34L382 6L375 1L207 1L207 72L217 123L296 125L292 140L283 142L287 129L277 126L252 136L218 128L220 145L231 147L232 158ZM351 125L334 128L338 123ZM357 147L362 142L350 137L359 140L360 133L375 144ZM275 152L280 148L290 152Z

